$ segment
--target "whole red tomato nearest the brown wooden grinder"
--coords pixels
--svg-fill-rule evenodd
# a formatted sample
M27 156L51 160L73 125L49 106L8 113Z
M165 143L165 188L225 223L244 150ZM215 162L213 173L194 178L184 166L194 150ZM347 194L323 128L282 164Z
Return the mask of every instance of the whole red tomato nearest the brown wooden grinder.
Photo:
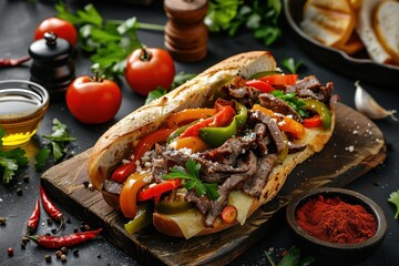
M158 86L170 89L174 75L173 59L162 49L137 49L127 57L126 81L131 89L141 95L147 95Z

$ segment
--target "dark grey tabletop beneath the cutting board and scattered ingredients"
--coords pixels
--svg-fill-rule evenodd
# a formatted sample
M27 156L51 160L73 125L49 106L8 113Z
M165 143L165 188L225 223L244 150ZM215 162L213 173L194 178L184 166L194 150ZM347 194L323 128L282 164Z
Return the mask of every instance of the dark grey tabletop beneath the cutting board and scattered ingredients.
M18 58L25 55L28 47L32 42L35 27L40 21L55 14L54 2L51 0L37 1L30 3L28 0L2 0L0 1L0 57ZM68 1L75 10L82 8L88 1ZM150 7L131 6L116 1L98 0L93 1L100 13L105 19L127 19L136 17L139 21L151 23L165 23L166 16L162 9L161 1L154 1ZM277 62L284 58L293 57L304 62L304 68L299 71L300 75L316 74L323 82L334 81L336 92L340 94L341 102L354 106L355 78L338 74L331 71L328 65L321 65L314 58L304 53L291 38L290 31L283 22L283 38L273 47L266 48L256 41L250 33L241 32L236 37L225 34L211 34L208 42L207 57L197 63L178 63L177 71L200 73L212 64L239 52L250 50L270 50ZM149 47L163 47L163 34L152 31L140 31L140 40ZM73 58L75 62L76 75L90 74L90 61L86 54L78 53ZM0 80L21 79L29 80L29 65L25 63L18 68L0 69ZM361 78L360 78L361 81ZM361 85L374 98L387 109L399 110L399 85L392 83L391 86L382 86L361 82ZM54 117L66 124L70 134L78 137L73 144L75 154L91 147L96 139L113 123L141 106L144 98L132 93L124 81L121 82L123 102L120 112L113 121L100 125L85 125L78 122L68 111L63 102L52 102L44 117L44 121L35 136L27 146L28 154L33 154L40 142L40 135L51 133L51 123ZM385 211L388 222L388 232L385 242L369 259L358 264L359 266L370 265L397 265L399 262L399 222L393 219L395 207L388 203L388 196L392 191L399 188L399 123L390 119L376 121L381 129L388 147L387 160L380 166L361 176L347 186L365 194L374 200ZM29 175L28 183L23 182L23 176ZM55 259L54 252L38 248L33 243L29 243L25 249L20 246L21 237L24 234L25 222L30 216L34 202L39 196L39 184L41 173L38 173L31 165L19 172L10 185L0 185L0 216L7 216L7 225L0 226L0 265L47 265L44 256L52 255L51 265L63 265L60 259ZM18 195L17 190L22 188L23 194ZM58 203L62 209L62 203ZM65 233L72 233L73 227L79 227L82 221L65 212L70 217ZM282 221L277 223L273 234L264 237L255 246L231 265L269 265L265 256L265 250L275 249L277 253L289 248L293 245L284 223L284 215L279 215ZM47 217L42 209L42 217ZM83 221L85 222L85 221ZM38 233L49 231L45 219L42 218ZM13 247L14 255L9 257L7 248ZM68 255L68 264L73 265L140 265L136 259L100 237L96 241L78 247L79 256Z

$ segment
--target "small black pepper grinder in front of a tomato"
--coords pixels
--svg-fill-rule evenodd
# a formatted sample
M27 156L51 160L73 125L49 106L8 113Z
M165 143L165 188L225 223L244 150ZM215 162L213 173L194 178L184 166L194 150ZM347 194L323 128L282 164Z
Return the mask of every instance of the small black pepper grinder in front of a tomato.
M54 32L45 32L43 39L29 48L33 59L30 80L44 86L51 95L63 94L74 79L72 52L66 40L58 38Z

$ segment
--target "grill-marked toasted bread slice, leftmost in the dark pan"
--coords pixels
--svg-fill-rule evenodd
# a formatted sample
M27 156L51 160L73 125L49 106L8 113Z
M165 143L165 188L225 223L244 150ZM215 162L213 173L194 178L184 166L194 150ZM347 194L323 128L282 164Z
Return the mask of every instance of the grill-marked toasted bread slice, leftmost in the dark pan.
M308 0L300 27L306 34L332 47L348 41L355 22L349 0Z

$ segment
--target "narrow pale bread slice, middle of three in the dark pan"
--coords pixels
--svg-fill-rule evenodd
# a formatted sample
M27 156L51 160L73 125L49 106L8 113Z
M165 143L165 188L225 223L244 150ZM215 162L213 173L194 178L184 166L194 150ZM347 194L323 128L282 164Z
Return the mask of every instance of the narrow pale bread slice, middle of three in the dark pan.
M362 0L356 23L356 31L371 60L378 63L390 63L392 57L383 49L372 27L372 12L380 2L381 0Z

